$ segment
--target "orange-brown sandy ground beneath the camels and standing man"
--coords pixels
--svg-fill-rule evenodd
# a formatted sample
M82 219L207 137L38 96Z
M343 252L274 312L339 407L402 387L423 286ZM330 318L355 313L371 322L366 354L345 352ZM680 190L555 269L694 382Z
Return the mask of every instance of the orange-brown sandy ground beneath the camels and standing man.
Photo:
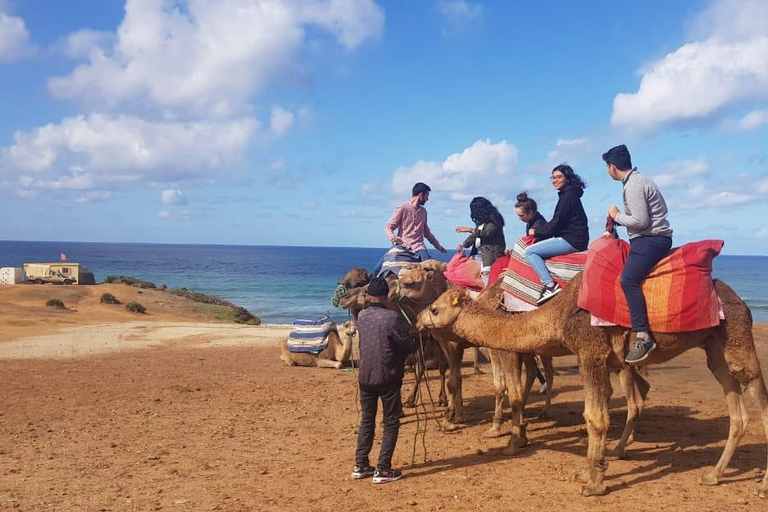
M629 457L609 464L608 496L581 498L570 480L586 452L572 357L556 360L552 420L534 418L542 399L533 398L531 445L519 456L499 453L506 438L482 437L490 367L473 375L467 364L467 423L443 434L431 412L417 420L407 411L394 460L406 476L374 486L349 478L354 372L283 366L276 344L285 328L191 323L194 305L158 296L157 306L147 291L145 305L154 306L140 319L121 308L103 313L107 306L85 296L70 298L77 311L39 306L62 290L43 286L29 298L0 289L2 510L768 508L755 496L766 441L749 399L753 421L731 469L720 486L698 485L728 432L722 391L700 351L651 369ZM765 371L768 326L756 325L755 337ZM626 414L618 382L614 389L613 442Z

